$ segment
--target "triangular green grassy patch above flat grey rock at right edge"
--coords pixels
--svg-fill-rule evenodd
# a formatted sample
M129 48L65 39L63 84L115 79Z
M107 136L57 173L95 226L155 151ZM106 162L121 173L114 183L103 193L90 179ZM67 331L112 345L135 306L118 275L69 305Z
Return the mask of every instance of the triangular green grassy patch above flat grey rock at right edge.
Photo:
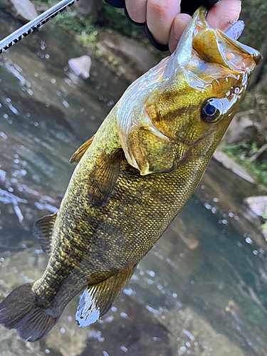
M252 142L251 145L247 142L238 142L236 145L225 146L223 151L241 167L244 167L258 184L267 187L267 160L255 159L251 161L251 156L258 152L256 142Z

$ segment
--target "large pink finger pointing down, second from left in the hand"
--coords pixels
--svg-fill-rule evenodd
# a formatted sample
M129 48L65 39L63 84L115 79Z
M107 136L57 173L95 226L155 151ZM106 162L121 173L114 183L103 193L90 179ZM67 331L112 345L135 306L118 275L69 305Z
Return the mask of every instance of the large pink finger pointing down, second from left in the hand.
M180 0L147 0L147 27L162 45L169 41L174 17L180 12Z

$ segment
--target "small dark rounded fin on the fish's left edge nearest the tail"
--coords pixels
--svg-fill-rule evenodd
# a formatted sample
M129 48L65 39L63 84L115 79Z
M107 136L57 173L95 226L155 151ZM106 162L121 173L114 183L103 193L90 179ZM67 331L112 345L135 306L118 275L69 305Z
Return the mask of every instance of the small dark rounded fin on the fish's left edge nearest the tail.
M33 236L38 239L43 252L48 255L51 253L53 227L57 216L58 213L43 216L33 225Z

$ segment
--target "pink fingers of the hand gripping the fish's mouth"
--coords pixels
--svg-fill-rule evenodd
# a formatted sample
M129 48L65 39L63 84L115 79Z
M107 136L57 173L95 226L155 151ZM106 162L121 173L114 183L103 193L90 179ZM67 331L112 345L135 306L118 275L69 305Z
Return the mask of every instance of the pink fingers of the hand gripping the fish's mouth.
M188 14L181 14L180 4L181 0L125 0L130 19L137 23L147 21L155 42L169 44L171 53L191 18ZM241 0L221 0L209 9L206 20L212 28L224 31L230 26L230 21L239 19L240 11Z

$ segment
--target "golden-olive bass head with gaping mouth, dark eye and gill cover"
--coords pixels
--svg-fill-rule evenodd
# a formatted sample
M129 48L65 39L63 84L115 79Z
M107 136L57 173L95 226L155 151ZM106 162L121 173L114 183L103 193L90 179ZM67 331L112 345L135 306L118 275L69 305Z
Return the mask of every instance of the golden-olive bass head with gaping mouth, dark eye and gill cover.
M171 172L189 155L211 157L261 61L231 31L211 28L205 14L201 7L192 16L128 132L141 174Z

